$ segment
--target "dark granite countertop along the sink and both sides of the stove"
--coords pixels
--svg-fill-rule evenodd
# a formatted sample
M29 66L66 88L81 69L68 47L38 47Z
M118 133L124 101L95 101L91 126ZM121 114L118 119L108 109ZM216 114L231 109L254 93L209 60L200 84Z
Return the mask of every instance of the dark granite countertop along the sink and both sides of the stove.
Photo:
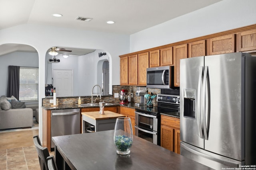
M136 106L134 102L130 102L128 104L119 104L119 103L114 103L114 105L108 105L104 107L111 107L111 106L124 106L124 107L129 107L132 109L138 109L141 111L146 111L146 112L153 112L153 113L158 113L157 107L148 107L148 106ZM43 109L46 110L58 110L58 109L80 109L80 108L89 108L89 107L99 107L99 106L86 106L86 107L81 107L76 104L73 105L59 105L59 106L42 106ZM173 112L166 112L166 113L160 113L160 115L167 115L167 116L172 116L172 117L177 117L180 118L180 113L179 111L173 111Z

